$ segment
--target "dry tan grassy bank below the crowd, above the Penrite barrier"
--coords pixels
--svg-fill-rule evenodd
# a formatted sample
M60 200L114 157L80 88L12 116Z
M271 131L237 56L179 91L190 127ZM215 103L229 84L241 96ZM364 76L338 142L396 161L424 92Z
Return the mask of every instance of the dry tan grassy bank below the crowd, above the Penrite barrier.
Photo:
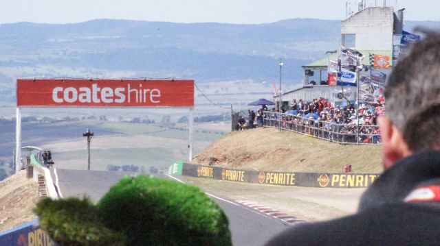
M232 132L192 160L234 169L340 173L351 164L353 173L380 173L380 146L340 145L294 132L258 128Z

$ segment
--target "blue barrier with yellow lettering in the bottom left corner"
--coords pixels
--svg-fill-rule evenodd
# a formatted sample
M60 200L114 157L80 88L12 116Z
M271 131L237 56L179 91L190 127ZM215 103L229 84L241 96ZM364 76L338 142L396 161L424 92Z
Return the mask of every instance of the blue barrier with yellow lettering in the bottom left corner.
M50 239L37 223L38 221L31 221L12 230L2 232L0 234L0 245L56 246L57 244Z

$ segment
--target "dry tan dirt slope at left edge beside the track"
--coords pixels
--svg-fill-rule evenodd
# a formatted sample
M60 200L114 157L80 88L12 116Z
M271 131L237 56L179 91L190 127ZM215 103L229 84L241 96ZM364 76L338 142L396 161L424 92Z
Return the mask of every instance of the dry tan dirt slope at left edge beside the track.
M37 218L32 212L39 199L37 186L26 178L26 171L0 182L0 232Z

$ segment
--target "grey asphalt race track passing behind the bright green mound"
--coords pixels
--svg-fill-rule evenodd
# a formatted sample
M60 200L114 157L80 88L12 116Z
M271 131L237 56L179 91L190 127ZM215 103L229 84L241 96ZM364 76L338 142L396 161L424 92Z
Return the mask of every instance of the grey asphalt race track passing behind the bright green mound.
M94 201L98 201L121 177L133 175L133 173L118 171L67 169L52 169L51 173L54 182L57 183L58 181L58 191L61 191L63 197L85 196ZM170 178L166 175L160 175L160 177ZM232 232L232 243L236 246L264 245L272 236L288 227L281 220L256 212L256 210L242 206L234 201L214 195L210 195L210 197L217 201L217 204L227 214L230 222L229 227Z

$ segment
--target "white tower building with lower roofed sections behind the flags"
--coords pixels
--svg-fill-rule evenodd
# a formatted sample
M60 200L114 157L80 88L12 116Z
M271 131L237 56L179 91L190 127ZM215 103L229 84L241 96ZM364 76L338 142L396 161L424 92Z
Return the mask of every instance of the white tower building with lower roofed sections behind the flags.
M388 75L391 73L393 62L395 62L395 58L398 55L394 53L395 56L393 56L393 50L399 51L402 28L403 9L395 12L393 7L364 8L362 6L358 12L351 14L347 19L341 21L340 44L343 47L360 51L364 55L364 59L361 60L360 64L366 66L371 65L371 55L388 57L389 68L377 69ZM338 60L339 56L340 49L335 47L334 51L327 51L324 57L305 64L303 66L303 86L281 95L283 108L289 108L289 103L293 99L311 101L314 98L324 97L335 105L340 105L347 100L351 102L357 101L358 90L356 87L329 85L327 73L329 62L331 60ZM360 73L366 74L367 72L362 71ZM340 94L341 92L346 99L338 97L338 93ZM278 101L278 95L274 99Z

